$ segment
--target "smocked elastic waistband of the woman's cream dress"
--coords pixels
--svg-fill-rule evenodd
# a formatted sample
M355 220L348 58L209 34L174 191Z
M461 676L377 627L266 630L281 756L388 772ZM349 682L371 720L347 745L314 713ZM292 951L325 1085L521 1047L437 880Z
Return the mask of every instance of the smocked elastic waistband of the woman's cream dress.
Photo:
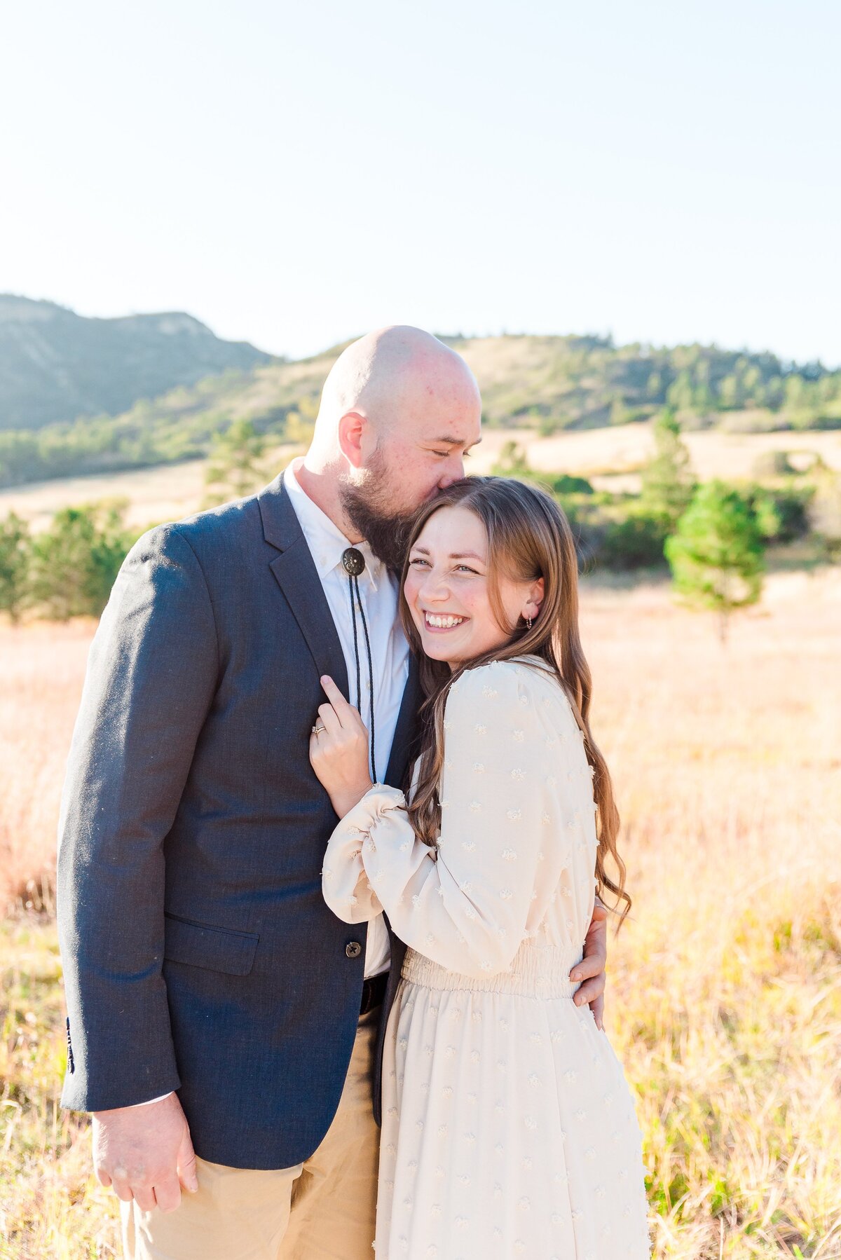
M570 980L570 970L580 961L581 950L540 948L525 941L508 971L498 975L461 975L459 971L448 971L410 949L406 951L401 975L425 989L512 993L522 998L571 998L579 985Z

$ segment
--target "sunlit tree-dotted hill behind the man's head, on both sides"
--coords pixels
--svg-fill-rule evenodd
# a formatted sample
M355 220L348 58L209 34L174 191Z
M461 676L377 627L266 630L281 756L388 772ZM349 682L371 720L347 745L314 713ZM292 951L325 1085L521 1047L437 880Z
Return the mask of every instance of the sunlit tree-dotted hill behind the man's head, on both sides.
M630 425L666 406L686 430L841 428L841 372L820 364L716 346L615 346L594 336L445 340L475 372L492 428L548 436ZM241 418L277 442L299 441L340 349L296 363L229 368L116 416L0 432L0 485L195 459Z

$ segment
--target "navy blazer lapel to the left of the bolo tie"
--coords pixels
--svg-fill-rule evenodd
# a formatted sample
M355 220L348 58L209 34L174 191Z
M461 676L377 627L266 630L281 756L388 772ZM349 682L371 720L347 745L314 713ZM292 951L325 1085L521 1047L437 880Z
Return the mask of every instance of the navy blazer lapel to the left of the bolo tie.
M329 674L344 696L348 694L348 670L330 607L324 595L315 562L306 546L295 509L276 478L257 495L264 537L279 554L270 562L293 615L306 639L319 677Z

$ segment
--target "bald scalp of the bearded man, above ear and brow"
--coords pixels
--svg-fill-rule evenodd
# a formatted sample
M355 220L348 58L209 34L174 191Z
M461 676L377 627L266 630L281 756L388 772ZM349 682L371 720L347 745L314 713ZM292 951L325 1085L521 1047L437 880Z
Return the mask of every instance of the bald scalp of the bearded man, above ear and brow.
M396 324L353 341L335 360L324 383L314 445L334 446L348 412L362 416L381 437L448 410L480 413L469 367L430 333Z

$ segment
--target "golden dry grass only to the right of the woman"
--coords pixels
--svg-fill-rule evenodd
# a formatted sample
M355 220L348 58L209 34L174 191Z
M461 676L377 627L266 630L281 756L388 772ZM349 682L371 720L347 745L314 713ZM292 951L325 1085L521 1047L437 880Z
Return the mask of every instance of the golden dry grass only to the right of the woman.
M657 591L586 600L658 1257L841 1255L838 578L775 578L726 650Z

